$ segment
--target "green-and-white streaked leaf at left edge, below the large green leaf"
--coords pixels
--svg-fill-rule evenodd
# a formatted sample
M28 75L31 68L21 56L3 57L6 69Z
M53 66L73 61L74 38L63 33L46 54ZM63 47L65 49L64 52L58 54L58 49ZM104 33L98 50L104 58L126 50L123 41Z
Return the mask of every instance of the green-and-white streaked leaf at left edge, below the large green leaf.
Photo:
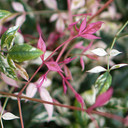
M7 59L2 54L0 54L0 71L12 79L17 79L14 70L9 66Z

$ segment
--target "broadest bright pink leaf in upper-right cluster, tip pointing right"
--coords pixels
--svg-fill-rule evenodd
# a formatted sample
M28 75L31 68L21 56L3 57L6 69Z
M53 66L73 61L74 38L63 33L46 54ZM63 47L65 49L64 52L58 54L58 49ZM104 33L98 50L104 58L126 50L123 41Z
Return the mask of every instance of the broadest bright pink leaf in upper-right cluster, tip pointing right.
M91 23L87 26L87 28L83 31L83 33L94 34L101 28L102 24L103 24L103 22L101 22L101 21L98 21L96 23Z

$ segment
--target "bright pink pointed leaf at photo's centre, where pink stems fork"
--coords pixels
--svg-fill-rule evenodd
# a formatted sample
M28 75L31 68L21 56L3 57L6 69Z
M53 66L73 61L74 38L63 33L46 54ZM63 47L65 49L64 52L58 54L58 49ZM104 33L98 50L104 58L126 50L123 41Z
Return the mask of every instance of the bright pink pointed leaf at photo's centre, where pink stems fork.
M49 70L51 71L60 71L63 72L60 68L60 66L58 65L57 62L55 61L51 61L51 62L45 62L46 66L48 67Z

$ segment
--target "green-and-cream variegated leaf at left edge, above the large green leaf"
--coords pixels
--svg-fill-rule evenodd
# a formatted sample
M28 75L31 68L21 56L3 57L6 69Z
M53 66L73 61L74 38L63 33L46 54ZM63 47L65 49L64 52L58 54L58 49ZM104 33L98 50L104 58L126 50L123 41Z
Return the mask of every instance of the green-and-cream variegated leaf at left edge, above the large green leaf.
M18 26L11 27L2 35L1 49L4 47L7 47L7 49L10 49L12 47L13 40L18 28L19 28Z

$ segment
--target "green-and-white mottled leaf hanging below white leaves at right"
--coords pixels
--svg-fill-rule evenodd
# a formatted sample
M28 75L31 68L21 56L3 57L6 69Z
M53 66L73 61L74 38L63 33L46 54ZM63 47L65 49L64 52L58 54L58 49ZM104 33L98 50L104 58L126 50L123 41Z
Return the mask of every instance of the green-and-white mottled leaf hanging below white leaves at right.
M95 87L98 89L98 94L102 94L108 90L112 83L112 76L109 72L105 72L104 74L100 75L95 83Z

